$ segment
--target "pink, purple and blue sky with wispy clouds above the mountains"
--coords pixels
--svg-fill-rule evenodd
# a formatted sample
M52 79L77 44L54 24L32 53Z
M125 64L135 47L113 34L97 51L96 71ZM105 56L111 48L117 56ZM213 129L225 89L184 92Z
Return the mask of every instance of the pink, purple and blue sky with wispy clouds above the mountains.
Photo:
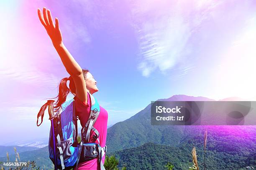
M176 94L256 99L253 0L1 0L4 142L49 136L47 113L40 127L36 116L69 76L38 19L43 7L95 77L108 125Z

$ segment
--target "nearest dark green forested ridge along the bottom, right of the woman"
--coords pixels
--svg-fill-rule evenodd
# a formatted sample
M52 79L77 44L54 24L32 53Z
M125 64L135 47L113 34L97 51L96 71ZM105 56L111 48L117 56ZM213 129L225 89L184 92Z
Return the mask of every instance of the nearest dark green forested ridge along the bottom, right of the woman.
M192 166L192 144L182 147L169 147L154 143L146 143L114 153L119 158L118 167L125 166L128 170L166 170L164 165L171 162L174 170L187 170ZM197 161L199 169L203 170L203 150L197 147ZM256 165L254 157L233 155L226 152L206 152L207 170L245 170L248 165Z

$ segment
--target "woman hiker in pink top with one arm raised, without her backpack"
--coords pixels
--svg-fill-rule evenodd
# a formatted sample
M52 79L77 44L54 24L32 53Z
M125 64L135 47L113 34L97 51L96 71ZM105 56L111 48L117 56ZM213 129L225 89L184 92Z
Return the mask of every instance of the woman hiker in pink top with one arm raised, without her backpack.
M55 110L58 110L62 103L66 101L67 95L71 91L74 94L74 99L76 100L76 112L79 117L80 124L82 127L85 126L87 120L90 116L90 94L94 94L99 91L97 88L97 81L95 81L94 77L88 70L83 70L79 66L79 64L75 61L73 56L69 53L67 48L64 46L61 30L59 28L59 20L55 18L55 24L51 17L50 10L43 8L43 15L41 10L38 9L38 17L46 29L51 41L53 43L54 48L58 52L61 61L69 73L69 78L61 79L59 84L59 94L56 97L56 106L54 106ZM69 82L69 88L67 87L67 81ZM107 137L107 122L108 122L108 112L100 107L100 114L97 118L97 121L94 124L94 127L98 130L100 136L100 146L104 147L106 144ZM93 135L90 135L89 142L94 141ZM102 162L104 164L105 154L102 158ZM81 162L78 164L78 170L100 170L100 165L98 162L98 158ZM76 167L74 167L76 170Z

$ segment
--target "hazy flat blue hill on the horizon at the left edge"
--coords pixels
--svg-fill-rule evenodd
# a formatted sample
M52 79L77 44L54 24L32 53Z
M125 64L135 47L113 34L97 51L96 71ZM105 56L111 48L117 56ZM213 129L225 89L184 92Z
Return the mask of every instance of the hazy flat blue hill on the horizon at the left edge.
M20 152L30 151L30 150L38 150L38 147L20 147L20 146L0 146L0 157L6 156L6 152L8 152L9 155L14 154L14 148L15 147Z

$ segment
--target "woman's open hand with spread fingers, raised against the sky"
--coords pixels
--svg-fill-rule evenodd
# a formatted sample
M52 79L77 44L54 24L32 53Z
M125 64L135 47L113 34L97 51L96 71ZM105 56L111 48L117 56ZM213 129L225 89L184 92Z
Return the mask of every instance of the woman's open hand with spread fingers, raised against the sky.
M51 11L47 10L45 7L43 8L43 14L41 13L41 10L38 8L38 17L44 25L44 28L46 29L49 37L51 38L51 41L54 45L59 45L62 43L62 36L61 36L61 30L59 29L59 20L58 18L55 18L55 24L51 17Z

